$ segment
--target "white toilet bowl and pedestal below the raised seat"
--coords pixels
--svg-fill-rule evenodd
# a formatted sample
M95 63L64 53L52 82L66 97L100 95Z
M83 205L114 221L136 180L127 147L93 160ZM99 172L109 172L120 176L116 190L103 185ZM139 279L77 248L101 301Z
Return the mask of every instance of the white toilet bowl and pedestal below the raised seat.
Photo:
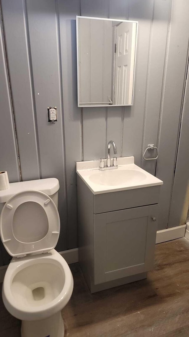
M2 297L10 314L22 320L22 337L63 337L60 311L72 291L70 268L52 249L43 256L13 258L5 274Z

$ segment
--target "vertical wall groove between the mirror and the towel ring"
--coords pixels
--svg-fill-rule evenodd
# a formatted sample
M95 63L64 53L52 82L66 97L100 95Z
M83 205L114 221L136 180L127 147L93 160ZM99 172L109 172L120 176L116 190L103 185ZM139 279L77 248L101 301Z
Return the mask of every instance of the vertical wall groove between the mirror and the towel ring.
M155 7L155 0L153 1L153 11L152 11L152 20L150 24L150 38L149 38L149 52L148 52L148 68L147 68L147 77L146 77L146 90L145 90L145 104L144 104L144 119L143 119L143 135L142 135L142 148L141 148L141 166L143 163L143 151L146 145L144 144L145 139L145 131L146 131L146 109L147 109L147 94L148 94L148 82L149 82L149 70L150 70L150 57L152 52L152 27L153 27L153 20L154 20L154 7Z

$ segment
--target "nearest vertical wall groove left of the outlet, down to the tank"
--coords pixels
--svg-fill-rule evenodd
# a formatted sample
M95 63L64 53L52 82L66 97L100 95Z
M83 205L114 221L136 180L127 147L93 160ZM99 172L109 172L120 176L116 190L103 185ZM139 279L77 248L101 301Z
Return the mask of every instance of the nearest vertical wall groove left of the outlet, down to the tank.
M33 74L33 65L32 65L32 53L31 53L31 43L30 43L30 34L29 34L29 21L28 21L28 10L27 10L27 0L22 0L23 9L24 9L24 24L26 29L27 37L27 56L28 56L28 66L30 72L30 84L31 84L31 93L32 93L32 103L33 103L33 112L34 112L34 124L35 124L35 136L37 143L37 159L38 159L38 169L39 169L39 178L41 178L41 156L40 156L40 147L39 147L39 132L37 124L37 108L36 108L36 99L35 99L35 87L34 87L34 74Z

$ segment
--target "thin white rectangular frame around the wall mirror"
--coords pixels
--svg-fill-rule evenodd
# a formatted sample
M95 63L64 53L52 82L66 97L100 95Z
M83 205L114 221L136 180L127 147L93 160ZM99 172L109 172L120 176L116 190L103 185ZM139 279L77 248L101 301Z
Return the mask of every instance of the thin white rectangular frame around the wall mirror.
M94 20L109 20L109 21L117 21L117 22L130 22L130 23L136 23L136 44L135 44L135 61L134 61L134 79L133 79L133 94L132 94L132 103L131 104L93 104L93 105L86 105L86 104L80 104L79 103L79 41L78 41L78 19L94 19ZM97 108L97 107L110 107L110 106L132 106L134 103L134 88L135 88L135 71L136 71L136 56L137 56L137 39L138 39L138 21L132 21L132 20L120 20L120 19L107 19L107 18L93 18L93 17L83 17L76 15L76 47L77 47L77 106L78 108Z

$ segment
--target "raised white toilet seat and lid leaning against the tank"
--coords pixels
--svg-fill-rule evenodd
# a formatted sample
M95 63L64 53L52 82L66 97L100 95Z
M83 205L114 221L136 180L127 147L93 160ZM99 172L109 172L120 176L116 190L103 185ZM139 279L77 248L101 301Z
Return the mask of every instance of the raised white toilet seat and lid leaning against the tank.
M45 193L23 191L13 195L0 216L0 235L11 256L26 256L53 249L59 238L60 217Z

